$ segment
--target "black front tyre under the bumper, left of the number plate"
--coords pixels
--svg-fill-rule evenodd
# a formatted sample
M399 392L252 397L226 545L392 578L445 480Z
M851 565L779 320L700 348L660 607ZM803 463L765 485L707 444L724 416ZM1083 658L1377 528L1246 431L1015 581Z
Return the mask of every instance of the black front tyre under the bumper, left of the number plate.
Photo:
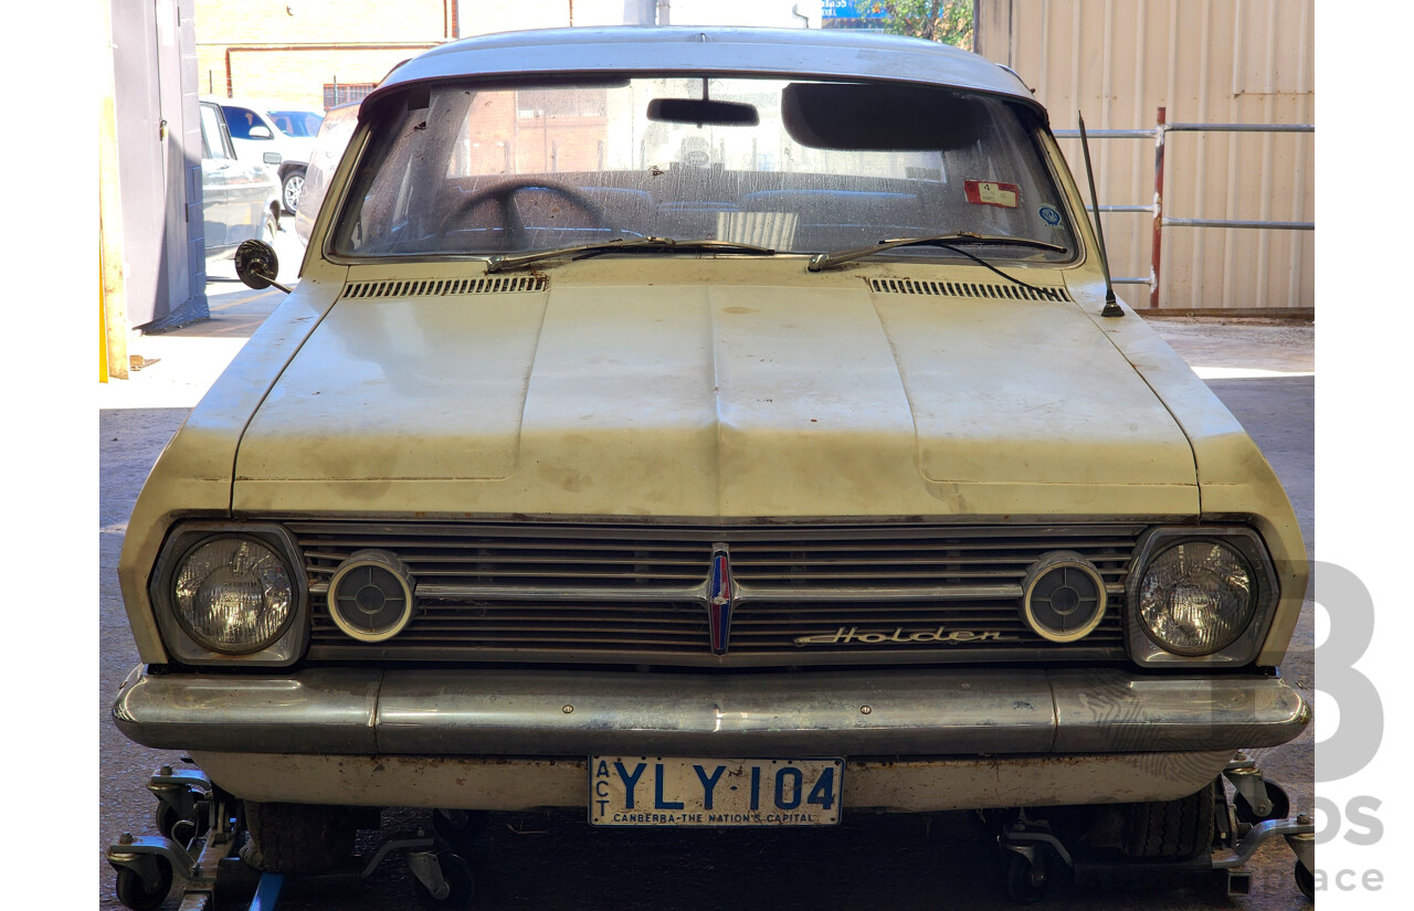
M324 873L354 853L351 811L246 801L250 840L240 859L266 873Z

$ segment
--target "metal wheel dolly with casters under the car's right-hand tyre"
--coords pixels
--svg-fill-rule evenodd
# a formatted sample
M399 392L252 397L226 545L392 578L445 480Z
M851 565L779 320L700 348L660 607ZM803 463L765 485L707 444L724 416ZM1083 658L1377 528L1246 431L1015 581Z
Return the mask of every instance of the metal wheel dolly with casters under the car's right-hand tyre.
M1243 870L1263 843L1284 838L1297 856L1297 887L1315 898L1315 825L1308 814L1288 816L1285 791L1266 781L1257 764L1243 753L1223 768L1223 778L1234 788L1229 805L1226 790L1213 797L1213 850L1186 860L1145 860L1116 857L1113 853L1070 850L1044 821L1019 818L998 836L1008 898L1032 904L1045 897L1056 873L1069 874L1070 883L1100 884L1133 880L1140 876L1217 874L1227 897L1251 894L1251 874ZM1220 780L1219 780L1220 782Z

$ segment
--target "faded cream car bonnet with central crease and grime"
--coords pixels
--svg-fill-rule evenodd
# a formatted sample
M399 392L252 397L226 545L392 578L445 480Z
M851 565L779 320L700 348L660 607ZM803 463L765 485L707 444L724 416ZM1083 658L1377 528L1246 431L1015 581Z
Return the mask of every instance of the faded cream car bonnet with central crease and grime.
M694 263L341 299L246 428L233 508L1198 513L1188 438L1075 302Z

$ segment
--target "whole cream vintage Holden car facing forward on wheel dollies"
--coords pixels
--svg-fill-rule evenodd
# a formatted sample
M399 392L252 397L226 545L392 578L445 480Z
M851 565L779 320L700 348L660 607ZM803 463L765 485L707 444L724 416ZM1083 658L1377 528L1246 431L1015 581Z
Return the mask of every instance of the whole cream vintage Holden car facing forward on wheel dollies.
M359 806L1087 806L1090 843L1188 857L1234 751L1308 723L1291 506L1106 305L1010 71L839 31L469 38L320 181L297 290L120 565L115 720L243 798L267 869L332 863Z

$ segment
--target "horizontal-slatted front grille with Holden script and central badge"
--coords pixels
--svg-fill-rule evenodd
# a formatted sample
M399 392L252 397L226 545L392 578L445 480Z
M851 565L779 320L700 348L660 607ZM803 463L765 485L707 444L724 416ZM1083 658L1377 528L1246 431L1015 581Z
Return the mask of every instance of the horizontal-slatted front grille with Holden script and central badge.
M311 660L772 667L1096 661L1124 655L1123 582L1143 525L578 525L290 521L308 573ZM328 613L361 549L416 580L409 626L382 643ZM1110 607L1075 643L1019 616L1028 569L1073 551ZM714 555L730 571L711 590ZM727 600L730 623L710 607ZM714 651L713 627L718 629Z

